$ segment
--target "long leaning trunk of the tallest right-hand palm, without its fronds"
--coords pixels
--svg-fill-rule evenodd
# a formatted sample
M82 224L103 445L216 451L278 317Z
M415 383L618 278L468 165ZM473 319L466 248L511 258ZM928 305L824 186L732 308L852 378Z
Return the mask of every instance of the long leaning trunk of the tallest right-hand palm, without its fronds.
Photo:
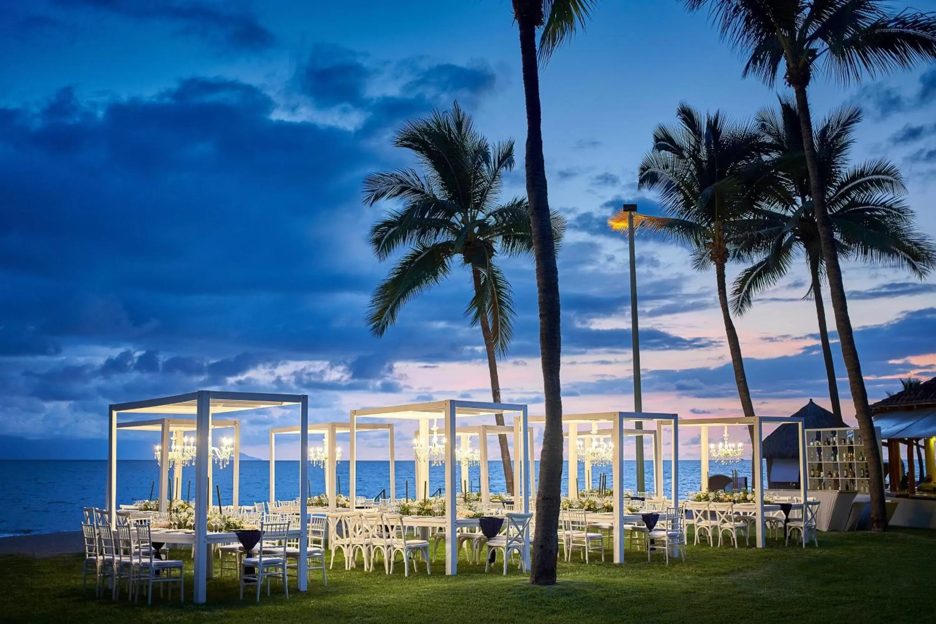
M797 94L797 109L799 110L799 125L803 133L803 152L806 156L806 167L810 172L810 188L812 191L812 206L816 214L816 225L819 229L819 240L822 243L823 259L826 261L826 277L828 278L829 298L832 300L832 312L835 313L835 327L839 331L841 357L845 360L845 370L848 371L848 385L852 391L852 400L855 402L855 418L861 437L866 441L865 453L868 457L868 485L871 499L871 530L887 529L887 508L885 505L884 474L881 470L881 447L874 442L874 421L871 419L868 406L868 391L865 389L865 378L861 374L861 362L858 359L858 350L855 345L855 334L852 332L852 321L848 316L848 300L845 298L845 285L841 281L841 267L839 255L835 249L835 238L832 223L826 211L826 190L823 188L822 177L819 174L819 164L816 160L815 143L812 139L812 116L810 102L806 96L806 83L794 85Z

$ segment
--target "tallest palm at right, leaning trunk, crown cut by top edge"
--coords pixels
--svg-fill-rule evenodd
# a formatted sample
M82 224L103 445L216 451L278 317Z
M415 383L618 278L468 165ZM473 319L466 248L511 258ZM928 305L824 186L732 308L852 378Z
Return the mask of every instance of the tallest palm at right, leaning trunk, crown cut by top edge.
M868 391L848 315L835 233L826 210L807 90L813 74L825 72L841 82L858 81L865 75L936 59L936 15L911 11L894 14L880 0L683 1L692 10L709 5L722 37L747 56L744 76L753 74L773 86L784 65L784 80L793 89L799 109L812 208L858 428L865 440L873 440ZM873 444L868 448L868 465L871 529L886 530L881 451Z

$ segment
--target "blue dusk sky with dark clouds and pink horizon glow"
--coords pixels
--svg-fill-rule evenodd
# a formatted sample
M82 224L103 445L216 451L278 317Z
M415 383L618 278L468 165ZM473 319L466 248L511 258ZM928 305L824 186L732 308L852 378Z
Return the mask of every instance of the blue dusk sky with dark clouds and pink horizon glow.
M308 394L315 422L490 400L467 272L407 304L383 338L365 326L388 270L367 232L392 206L365 207L361 181L411 167L394 130L457 100L489 138L517 141L504 194L524 193L509 0L3 0L0 66L0 435L99 439L109 403L202 388ZM633 408L626 245L607 217L625 201L658 210L636 168L680 102L736 120L776 105L782 85L741 67L676 0L606 0L543 68L549 202L569 224L566 413ZM863 109L853 161L899 165L936 237L936 66L816 80L811 97L814 118ZM740 414L713 272L659 239L638 237L636 258L644 409ZM533 260L504 268L518 319L503 399L542 414ZM844 281L870 399L936 374L936 285L857 263ZM759 414L828 406L806 284L800 261L736 318ZM245 451L267 457L271 423L295 414L242 419Z

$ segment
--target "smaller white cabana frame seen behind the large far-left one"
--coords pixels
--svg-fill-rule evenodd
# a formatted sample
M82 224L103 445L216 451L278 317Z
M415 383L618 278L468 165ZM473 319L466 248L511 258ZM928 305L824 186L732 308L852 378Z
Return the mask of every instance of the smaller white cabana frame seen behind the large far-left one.
M154 418L150 420L135 420L117 423L117 428L123 431L159 431L159 511L168 509L168 453L172 443L182 443L186 431L197 430L195 418ZM234 486L231 504L238 508L241 486L241 422L238 420L212 419L212 433L214 429L234 428ZM209 441L211 443L211 441ZM212 462L208 462L208 487L212 487ZM172 467L172 494L174 499L182 500L182 471Z

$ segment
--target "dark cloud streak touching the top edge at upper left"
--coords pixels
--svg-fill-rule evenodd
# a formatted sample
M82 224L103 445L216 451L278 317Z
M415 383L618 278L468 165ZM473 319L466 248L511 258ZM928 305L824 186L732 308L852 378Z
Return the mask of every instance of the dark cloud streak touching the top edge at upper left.
M234 51L263 51L276 43L270 30L240 3L209 0L53 0L69 8L105 11L124 18L167 22Z

